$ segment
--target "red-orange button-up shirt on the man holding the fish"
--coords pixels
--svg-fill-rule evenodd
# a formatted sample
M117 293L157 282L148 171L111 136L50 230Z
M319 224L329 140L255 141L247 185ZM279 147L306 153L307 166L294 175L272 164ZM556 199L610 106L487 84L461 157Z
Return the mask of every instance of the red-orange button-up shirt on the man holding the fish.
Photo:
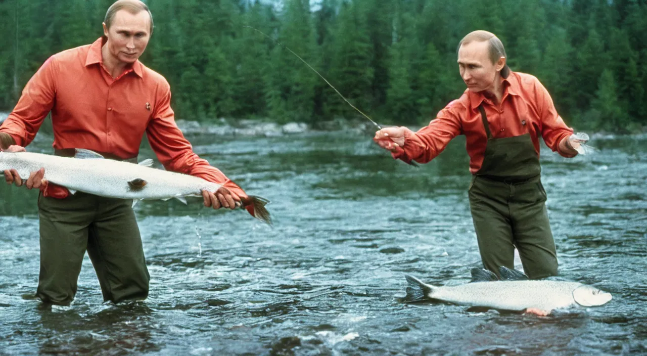
M241 197L247 196L220 170L193 153L175 124L166 79L140 61L113 79L102 61L103 43L99 38L45 61L25 86L0 132L11 135L17 145L27 146L51 111L54 148L85 148L120 159L137 157L146 133L166 170L224 184ZM56 188L49 184L49 195L67 195L55 194L52 190Z

